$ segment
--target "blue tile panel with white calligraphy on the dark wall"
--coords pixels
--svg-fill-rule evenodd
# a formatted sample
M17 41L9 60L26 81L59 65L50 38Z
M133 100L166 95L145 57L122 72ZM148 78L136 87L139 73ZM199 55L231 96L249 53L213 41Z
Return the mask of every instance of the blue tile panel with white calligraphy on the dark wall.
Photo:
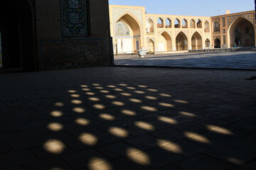
M63 36L89 35L88 1L61 0L60 5Z

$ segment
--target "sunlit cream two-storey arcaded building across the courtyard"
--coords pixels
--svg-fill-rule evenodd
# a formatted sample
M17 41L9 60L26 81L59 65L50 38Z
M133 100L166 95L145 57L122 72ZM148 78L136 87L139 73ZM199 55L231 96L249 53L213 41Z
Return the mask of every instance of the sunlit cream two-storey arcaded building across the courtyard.
M242 16L242 17L238 17ZM171 16L145 13L143 6L110 5L110 30L114 53L255 47L255 11L223 16ZM117 31L122 21L129 35ZM128 40L129 39L129 40Z

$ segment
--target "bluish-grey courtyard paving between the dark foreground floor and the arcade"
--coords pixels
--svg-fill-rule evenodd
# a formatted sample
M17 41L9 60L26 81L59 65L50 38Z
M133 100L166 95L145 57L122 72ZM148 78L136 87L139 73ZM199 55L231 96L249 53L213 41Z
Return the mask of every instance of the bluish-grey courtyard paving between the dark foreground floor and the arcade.
M256 69L256 52L179 53L169 55L117 55L117 65L154 65L171 67L211 67Z

